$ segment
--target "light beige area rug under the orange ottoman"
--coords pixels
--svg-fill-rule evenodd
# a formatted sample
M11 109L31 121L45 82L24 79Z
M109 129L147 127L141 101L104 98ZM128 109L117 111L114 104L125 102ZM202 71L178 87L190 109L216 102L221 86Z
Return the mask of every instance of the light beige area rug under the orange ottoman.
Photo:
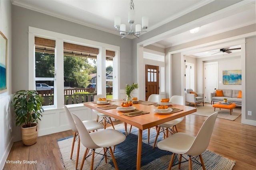
M242 113L241 107L235 107L232 111L232 115L230 115L229 109L216 108L214 111L214 107L212 107L212 105L210 104L204 104L204 106L196 105L196 110L197 111L192 114L209 117L212 113L218 111L218 118L227 119L231 121L236 120L236 118L238 118Z

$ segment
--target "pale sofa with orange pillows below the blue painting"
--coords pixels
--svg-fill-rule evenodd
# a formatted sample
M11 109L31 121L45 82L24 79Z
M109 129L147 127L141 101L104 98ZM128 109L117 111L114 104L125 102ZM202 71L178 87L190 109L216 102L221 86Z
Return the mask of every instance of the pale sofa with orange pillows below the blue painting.
M223 96L216 96L216 92L211 93L211 104L213 102L223 101L224 98L228 100L228 102L233 102L236 106L242 106L242 98L237 98L240 90L232 90L232 89L217 89L222 90Z

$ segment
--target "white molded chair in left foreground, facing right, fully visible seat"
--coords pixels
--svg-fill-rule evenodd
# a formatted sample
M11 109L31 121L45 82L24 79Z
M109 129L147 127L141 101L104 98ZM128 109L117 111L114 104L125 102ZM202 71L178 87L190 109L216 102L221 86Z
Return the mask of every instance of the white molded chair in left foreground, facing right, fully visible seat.
M80 134L81 142L84 145L84 147L86 147L80 170L82 170L82 168L84 166L84 160L86 159L86 155L87 155L89 149L92 150L92 152L88 155L88 156L92 155L92 162L91 162L90 169L91 170L93 169L95 149L98 149L98 148L104 149L104 157L105 157L106 163L107 163L106 153L109 149L110 154L112 156L114 166L115 166L116 170L118 170L116 160L115 160L115 157L113 154L113 150L111 147L123 142L126 139L126 136L114 129L105 129L105 130L97 131L94 133L88 133L88 129L86 129L86 127L84 126L82 121L75 114L72 114L72 115L73 115L74 121L76 123L78 132Z

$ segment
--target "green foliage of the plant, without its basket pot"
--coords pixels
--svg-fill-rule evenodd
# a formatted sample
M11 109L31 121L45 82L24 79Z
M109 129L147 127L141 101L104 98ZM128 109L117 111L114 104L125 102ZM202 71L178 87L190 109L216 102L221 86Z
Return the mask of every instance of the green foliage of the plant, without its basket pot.
M26 127L32 127L32 123L38 123L41 120L42 97L36 90L20 90L14 94L12 106L14 107L16 126L25 124Z

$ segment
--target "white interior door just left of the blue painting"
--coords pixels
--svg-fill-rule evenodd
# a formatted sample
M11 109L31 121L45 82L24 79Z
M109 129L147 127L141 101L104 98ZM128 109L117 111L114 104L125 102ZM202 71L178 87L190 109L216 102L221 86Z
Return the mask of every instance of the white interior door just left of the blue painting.
M204 102L211 102L210 93L218 89L218 62L204 63Z

